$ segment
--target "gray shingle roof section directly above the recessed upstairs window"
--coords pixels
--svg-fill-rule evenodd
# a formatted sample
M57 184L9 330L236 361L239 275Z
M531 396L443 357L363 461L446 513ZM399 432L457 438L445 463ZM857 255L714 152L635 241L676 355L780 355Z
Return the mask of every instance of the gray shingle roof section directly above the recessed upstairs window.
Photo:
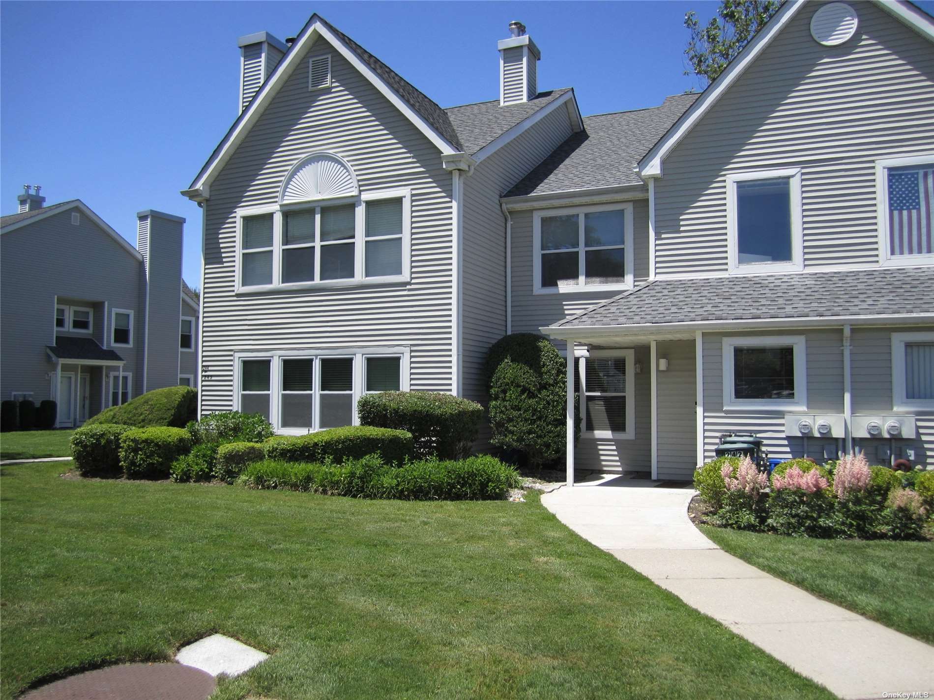
M641 185L636 164L698 98L672 95L657 107L584 118L574 133L504 197Z

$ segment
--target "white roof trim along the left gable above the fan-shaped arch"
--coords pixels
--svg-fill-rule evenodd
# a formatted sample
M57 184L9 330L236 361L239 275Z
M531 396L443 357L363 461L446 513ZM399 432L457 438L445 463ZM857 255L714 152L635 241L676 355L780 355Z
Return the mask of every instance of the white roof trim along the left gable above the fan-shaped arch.
M211 156L210 160L205 163L201 173L198 174L195 181L191 184L191 188L183 189L182 194L192 200L204 200L208 196L207 188L210 186L211 182L214 181L214 178L219 174L221 168L230 160L230 157L233 155L233 150L243 142L250 129L252 129L253 125L260 119L262 113L273 101L273 98L285 81L290 77L299 63L302 62L305 51L318 36L322 36L330 42L333 48L347 59L347 63L354 66L360 71L361 75L373 83L376 90L380 91L392 105L415 124L417 129L421 133L424 133L429 141L438 147L442 153L458 152L458 148L448 143L447 139L442 136L441 133L438 133L426 119L419 115L389 86L389 83L383 80L382 77L379 77L369 65L363 63L353 50L347 48L344 42L334 35L333 32L316 17L305 26L302 35L295 40L285 60L276 65L276 70L273 72L273 75L266 80L262 89L253 98L248 108L237 118L233 129L227 133L216 152Z

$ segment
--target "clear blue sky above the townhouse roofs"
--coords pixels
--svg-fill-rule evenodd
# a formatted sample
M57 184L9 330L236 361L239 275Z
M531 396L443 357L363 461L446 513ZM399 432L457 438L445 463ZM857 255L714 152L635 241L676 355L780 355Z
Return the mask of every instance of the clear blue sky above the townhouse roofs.
M934 0L918 3L928 12ZM519 20L542 50L539 89L573 86L585 114L658 105L683 75L685 13L669 2L0 3L0 213L22 185L81 199L135 243L141 209L187 217L184 275L200 285L191 183L236 118L238 36L296 35L313 12L442 106L499 97L498 39ZM597 68L608 66L608 68Z

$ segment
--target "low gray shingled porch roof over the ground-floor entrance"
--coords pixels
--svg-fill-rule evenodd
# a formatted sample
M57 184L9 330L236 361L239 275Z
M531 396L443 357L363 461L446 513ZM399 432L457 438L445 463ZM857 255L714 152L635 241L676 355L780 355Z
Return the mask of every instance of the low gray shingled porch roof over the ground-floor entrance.
M934 268L656 279L560 328L934 312Z

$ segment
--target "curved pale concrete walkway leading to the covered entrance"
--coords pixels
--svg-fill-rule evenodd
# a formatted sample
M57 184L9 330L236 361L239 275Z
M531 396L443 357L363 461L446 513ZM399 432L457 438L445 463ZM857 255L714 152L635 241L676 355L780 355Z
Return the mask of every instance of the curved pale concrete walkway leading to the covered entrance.
M842 698L934 697L934 647L724 552L687 517L695 492L657 484L604 477L545 494L542 503L584 539ZM893 585L898 576L892 572Z

